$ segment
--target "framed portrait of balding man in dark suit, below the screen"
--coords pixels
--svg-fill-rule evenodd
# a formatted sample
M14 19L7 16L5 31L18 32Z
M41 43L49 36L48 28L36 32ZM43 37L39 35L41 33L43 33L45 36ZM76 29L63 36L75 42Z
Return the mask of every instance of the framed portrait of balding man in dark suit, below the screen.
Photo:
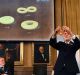
M49 42L37 41L33 43L33 63L50 64L50 46Z

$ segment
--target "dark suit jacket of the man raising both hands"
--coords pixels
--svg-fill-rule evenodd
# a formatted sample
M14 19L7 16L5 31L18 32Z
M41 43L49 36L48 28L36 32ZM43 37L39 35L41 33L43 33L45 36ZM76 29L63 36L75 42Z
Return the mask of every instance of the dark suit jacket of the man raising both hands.
M73 44L56 42L56 38L50 39L50 45L59 50L59 55L54 66L54 71L61 71L64 68L69 72L79 72L75 53L80 48L80 40L76 37Z

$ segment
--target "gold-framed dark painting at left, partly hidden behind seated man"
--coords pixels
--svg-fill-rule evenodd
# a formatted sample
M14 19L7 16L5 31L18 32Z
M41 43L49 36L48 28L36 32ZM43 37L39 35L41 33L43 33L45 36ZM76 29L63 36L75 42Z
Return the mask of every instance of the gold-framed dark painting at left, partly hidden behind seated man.
M0 45L4 47L6 59L10 57L14 60L14 65L23 65L23 42L4 41Z

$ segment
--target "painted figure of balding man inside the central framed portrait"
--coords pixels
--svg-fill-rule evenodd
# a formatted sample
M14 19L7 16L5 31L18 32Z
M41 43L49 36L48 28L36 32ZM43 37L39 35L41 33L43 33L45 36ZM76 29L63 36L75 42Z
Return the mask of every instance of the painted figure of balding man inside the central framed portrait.
M40 46L37 53L35 53L34 57L35 63L48 63L48 55L45 53L44 46Z

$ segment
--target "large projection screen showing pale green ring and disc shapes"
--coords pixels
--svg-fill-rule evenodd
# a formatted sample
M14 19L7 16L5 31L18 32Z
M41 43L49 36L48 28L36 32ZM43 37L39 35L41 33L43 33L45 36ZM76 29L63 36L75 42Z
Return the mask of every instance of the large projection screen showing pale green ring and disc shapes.
M53 0L0 0L0 40L48 41L53 30Z

